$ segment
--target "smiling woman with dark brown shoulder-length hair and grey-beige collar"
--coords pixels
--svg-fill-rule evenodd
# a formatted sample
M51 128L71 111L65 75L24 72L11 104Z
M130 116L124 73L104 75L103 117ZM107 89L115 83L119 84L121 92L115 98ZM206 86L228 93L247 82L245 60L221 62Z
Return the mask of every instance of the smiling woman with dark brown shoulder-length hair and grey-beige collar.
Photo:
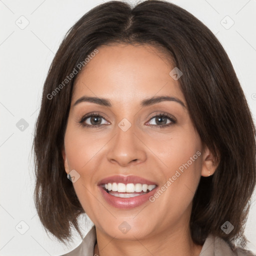
M238 103L239 102L239 103ZM165 1L96 6L43 87L35 204L65 255L253 255L243 235L255 128L212 32Z

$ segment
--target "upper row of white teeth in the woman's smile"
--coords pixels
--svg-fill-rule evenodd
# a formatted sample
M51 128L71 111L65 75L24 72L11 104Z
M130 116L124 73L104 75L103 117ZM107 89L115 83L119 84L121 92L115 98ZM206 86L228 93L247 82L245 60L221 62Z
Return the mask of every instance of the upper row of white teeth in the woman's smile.
M105 184L105 189L108 191L117 191L117 192L127 192L127 193L134 193L134 192L146 192L147 189L151 191L155 188L155 185L147 185L147 184L140 184L140 183L107 183Z

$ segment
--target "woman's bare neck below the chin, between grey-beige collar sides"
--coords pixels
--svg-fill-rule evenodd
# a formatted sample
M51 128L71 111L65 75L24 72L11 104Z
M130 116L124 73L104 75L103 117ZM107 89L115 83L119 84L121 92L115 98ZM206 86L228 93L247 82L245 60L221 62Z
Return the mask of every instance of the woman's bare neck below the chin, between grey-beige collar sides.
M112 238L96 230L97 244L94 255L99 256L147 256L147 255L175 255L198 256L201 245L193 243L189 229L185 232L161 232L146 239L121 240Z

